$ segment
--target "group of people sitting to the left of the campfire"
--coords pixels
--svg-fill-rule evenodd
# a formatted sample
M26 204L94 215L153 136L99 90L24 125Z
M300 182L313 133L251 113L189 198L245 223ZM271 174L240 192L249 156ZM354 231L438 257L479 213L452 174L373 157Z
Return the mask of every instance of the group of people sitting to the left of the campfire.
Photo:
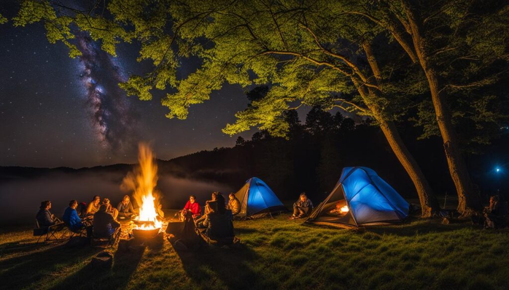
M50 209L51 201L41 202L36 215L39 227L47 228L54 224L65 223L74 233L86 231L88 237L96 238L111 237L120 231L119 220L132 219L137 215L129 196L124 196L117 208L112 207L107 198L101 202L99 196L94 196L88 205L71 200L69 207L64 211L62 220L52 214Z

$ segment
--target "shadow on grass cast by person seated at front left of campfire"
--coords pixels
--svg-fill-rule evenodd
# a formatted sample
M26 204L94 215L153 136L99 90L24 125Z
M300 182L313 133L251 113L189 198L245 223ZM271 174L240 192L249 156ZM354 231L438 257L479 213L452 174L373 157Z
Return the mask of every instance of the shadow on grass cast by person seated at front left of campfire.
M52 289L123 289L138 267L143 253L144 251L117 251L111 269L95 269L88 264Z

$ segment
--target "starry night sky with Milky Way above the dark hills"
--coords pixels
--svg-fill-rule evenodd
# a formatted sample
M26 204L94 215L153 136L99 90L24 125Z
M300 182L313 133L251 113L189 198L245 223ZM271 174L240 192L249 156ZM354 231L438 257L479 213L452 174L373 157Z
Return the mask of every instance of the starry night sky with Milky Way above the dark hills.
M2 13L11 18L15 7ZM62 43L50 44L41 23L0 25L0 166L73 168L133 163L139 141L160 159L233 146L221 132L246 107L240 86L225 85L211 100L191 107L187 120L164 117L164 92L152 101L127 97L117 83L151 69L136 62L138 47L120 45L118 57L80 35L83 55L71 59ZM186 60L180 77L199 60ZM249 139L254 131L241 134Z

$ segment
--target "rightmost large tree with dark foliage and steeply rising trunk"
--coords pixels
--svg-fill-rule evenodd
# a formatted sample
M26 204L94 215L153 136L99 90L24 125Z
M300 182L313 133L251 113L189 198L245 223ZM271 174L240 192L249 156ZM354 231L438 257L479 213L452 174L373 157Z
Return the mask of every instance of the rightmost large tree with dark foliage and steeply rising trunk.
M509 5L483 0L432 4L399 0L346 1L343 7L343 16L362 16L386 29L425 73L435 117L431 126L427 123L427 133L436 124L458 193L458 210L463 215L478 212L479 192L462 157L454 116L470 118L485 132L487 124L506 119L495 107L502 107L500 95L506 94L493 94L493 85L504 80L504 76L506 80ZM451 109L451 105L462 103L469 106ZM427 111L423 104L421 116ZM477 142L487 141L487 134L472 137Z

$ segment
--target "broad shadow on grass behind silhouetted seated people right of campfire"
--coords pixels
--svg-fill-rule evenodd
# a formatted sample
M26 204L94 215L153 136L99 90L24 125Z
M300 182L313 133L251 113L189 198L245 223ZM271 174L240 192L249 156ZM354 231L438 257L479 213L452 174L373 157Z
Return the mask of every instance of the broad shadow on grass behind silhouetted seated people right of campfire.
M238 231L238 229L235 229ZM204 288L229 289L276 288L251 267L260 256L244 244L235 248L203 247L196 251L176 250L187 275ZM217 285L223 284L222 286Z

